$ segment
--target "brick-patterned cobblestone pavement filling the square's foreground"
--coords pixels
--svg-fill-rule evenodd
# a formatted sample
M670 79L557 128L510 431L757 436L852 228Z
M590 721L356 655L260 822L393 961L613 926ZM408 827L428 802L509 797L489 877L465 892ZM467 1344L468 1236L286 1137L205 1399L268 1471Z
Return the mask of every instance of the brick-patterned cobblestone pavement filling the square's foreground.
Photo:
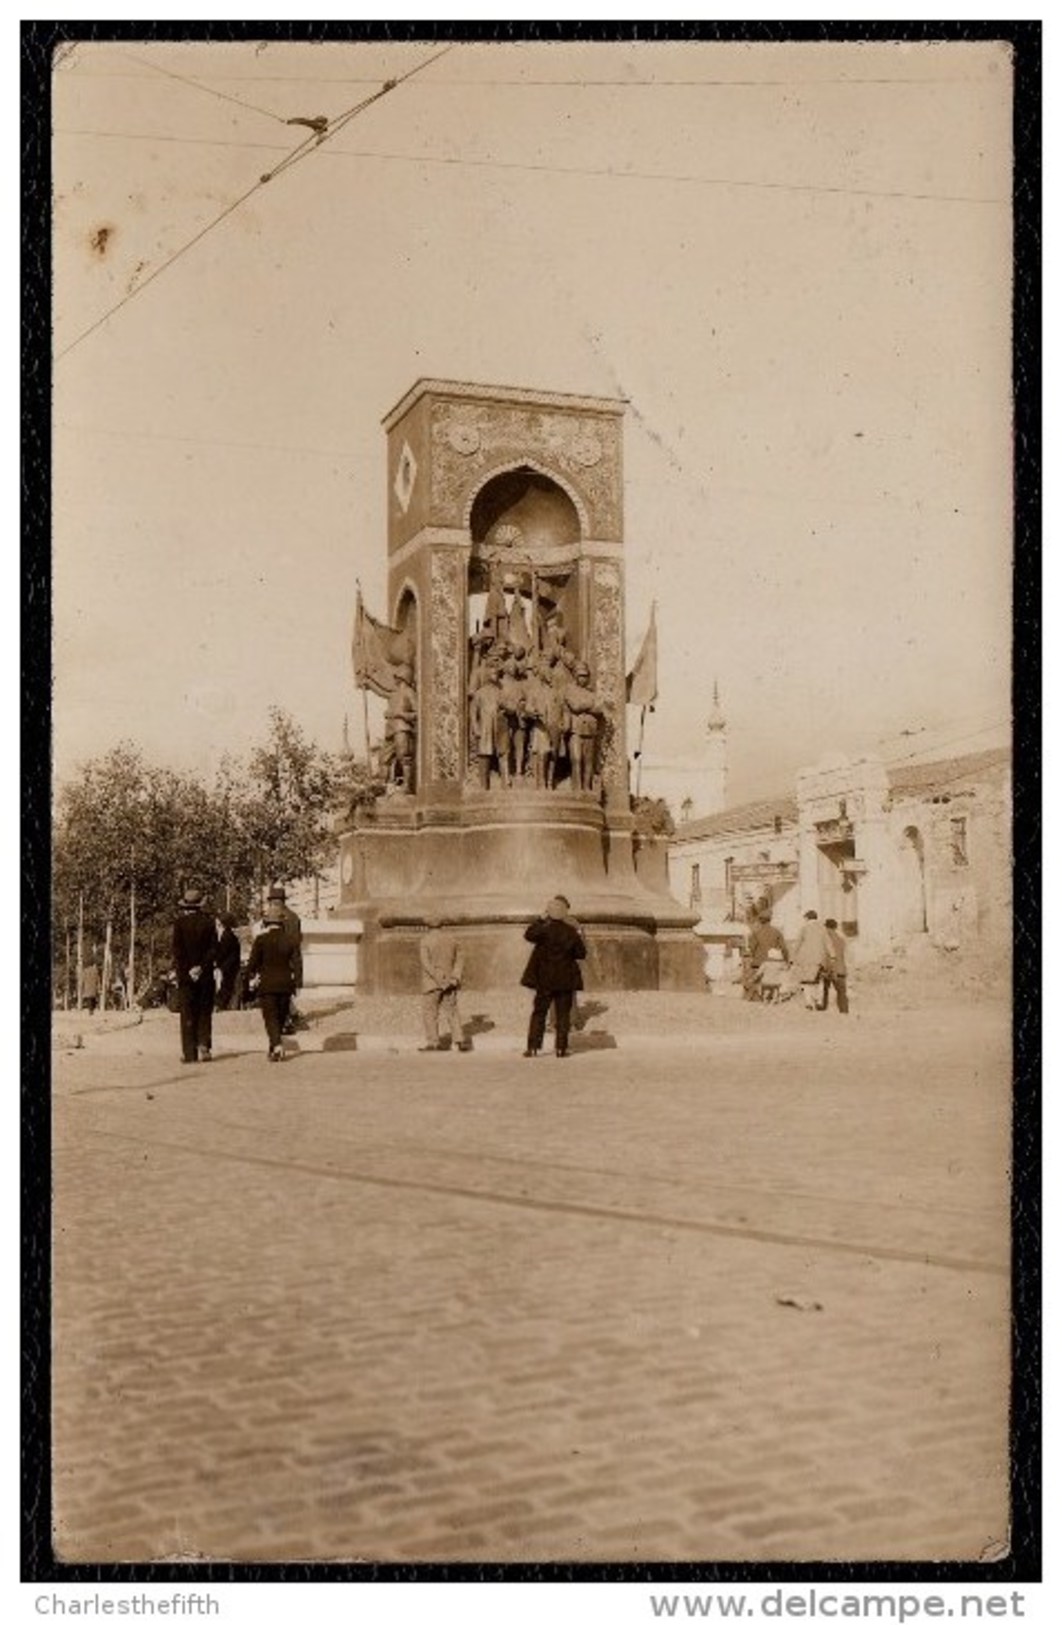
M58 1053L57 1555L999 1550L1004 1008L718 1024Z

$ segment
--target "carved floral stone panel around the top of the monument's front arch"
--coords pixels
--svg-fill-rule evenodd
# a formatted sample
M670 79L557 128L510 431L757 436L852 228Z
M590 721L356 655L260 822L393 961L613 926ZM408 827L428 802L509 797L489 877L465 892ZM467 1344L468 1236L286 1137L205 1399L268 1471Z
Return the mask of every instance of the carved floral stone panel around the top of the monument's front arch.
M620 426L546 408L438 401L432 408L435 523L461 525L477 478L499 463L554 468L583 499L594 536L620 533Z

